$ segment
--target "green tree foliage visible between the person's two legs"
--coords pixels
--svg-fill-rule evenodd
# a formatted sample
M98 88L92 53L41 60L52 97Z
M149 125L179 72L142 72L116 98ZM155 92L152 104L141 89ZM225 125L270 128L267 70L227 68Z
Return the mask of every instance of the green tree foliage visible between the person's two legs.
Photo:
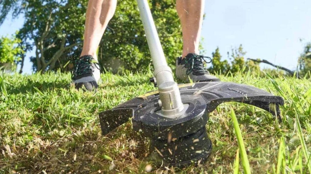
M182 53L181 26L175 1L151 1L150 8L167 62L174 69L175 58ZM99 53L100 64L114 73L148 71L151 55L136 1L118 1Z

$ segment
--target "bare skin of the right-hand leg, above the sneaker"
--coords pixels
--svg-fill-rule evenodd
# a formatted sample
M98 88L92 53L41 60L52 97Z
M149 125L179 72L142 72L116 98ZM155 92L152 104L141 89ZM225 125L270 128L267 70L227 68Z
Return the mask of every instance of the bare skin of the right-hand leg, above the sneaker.
M176 9L183 32L183 58L199 53L205 0L176 0Z

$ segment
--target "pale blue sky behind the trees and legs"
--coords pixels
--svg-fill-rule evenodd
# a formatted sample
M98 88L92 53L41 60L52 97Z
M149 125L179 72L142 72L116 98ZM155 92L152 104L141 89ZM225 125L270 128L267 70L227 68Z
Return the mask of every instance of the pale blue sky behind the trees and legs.
M310 0L206 0L202 43L206 56L219 47L223 59L227 52L243 45L246 58L266 59L295 69L304 44L311 41ZM11 35L22 27L24 18L11 16L0 26L0 36ZM302 39L302 42L300 41ZM32 73L27 53L24 73ZM263 64L262 68L272 68Z

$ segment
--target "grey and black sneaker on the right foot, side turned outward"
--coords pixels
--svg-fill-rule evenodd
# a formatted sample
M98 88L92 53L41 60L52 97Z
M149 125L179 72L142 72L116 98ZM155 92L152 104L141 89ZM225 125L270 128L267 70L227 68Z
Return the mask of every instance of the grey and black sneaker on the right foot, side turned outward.
M206 61L205 58L209 61ZM220 81L207 71L204 62L211 63L211 58L194 53L189 53L184 59L178 57L176 59L177 78L188 83L190 82L189 78L193 82Z

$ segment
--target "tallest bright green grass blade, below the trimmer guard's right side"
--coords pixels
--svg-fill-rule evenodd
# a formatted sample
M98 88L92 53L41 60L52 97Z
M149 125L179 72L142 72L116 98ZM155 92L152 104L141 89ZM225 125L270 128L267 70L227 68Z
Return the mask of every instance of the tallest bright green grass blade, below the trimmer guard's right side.
M245 146L244 146L244 142L243 142L243 137L241 134L241 130L239 128L239 123L238 123L238 120L235 116L233 108L231 108L231 119L233 122L234 132L235 132L236 138L238 140L238 145L239 145L239 149L240 149L240 153L241 153L244 173L250 174L251 168L249 166L249 162L248 162L248 158L247 158L247 154L246 154L246 150L245 150Z

